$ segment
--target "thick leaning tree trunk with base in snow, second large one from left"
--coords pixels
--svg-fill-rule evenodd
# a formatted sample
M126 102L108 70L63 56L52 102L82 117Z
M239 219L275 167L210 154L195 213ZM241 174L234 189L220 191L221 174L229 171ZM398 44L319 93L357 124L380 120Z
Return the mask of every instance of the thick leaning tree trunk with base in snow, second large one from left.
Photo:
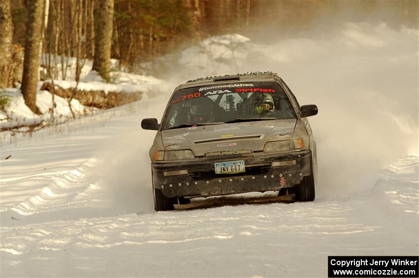
M25 60L23 62L22 94L26 105L35 113L36 83L39 71L39 44L43 23L44 0L26 0L28 21L26 23Z

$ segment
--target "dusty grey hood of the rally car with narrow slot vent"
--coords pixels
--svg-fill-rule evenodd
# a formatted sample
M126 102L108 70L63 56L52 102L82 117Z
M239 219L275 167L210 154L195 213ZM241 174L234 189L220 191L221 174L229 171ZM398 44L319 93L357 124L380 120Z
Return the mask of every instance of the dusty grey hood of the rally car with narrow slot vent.
M262 151L265 142L292 137L297 120L269 120L237 124L211 124L163 130L166 151L192 150L195 156L209 152Z

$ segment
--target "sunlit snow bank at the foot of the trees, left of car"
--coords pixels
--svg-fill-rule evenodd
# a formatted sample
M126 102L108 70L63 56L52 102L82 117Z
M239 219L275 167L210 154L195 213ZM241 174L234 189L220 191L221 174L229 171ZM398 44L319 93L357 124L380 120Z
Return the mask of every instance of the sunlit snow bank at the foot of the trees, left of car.
M44 57L45 59L45 57ZM63 89L77 88L82 91L97 91L115 93L142 93L142 97L152 97L154 93L167 91L171 92L173 86L153 76L137 75L132 73L124 72L123 68L120 70L113 70L110 73L112 83L106 83L100 75L92 68L92 61L83 61L83 67L80 74L80 82L77 84L75 79L75 58L65 58L64 62L68 61L68 69L66 78L68 80L62 80L61 78L61 58L58 59L58 69L60 76L57 80L54 80L54 85L60 86ZM111 60L111 66L116 68L118 65L117 60ZM122 71L121 71L122 70ZM0 123L1 128L10 128L20 125L32 125L40 124L42 122L47 123L52 118L57 122L62 122L69 117L72 117L70 107L67 99L55 95L55 108L54 115L52 112L52 95L47 91L41 91L40 88L44 82L52 83L52 80L47 79L42 82L38 82L38 92L36 96L36 105L38 106L42 115L36 115L26 105L23 99L20 89L5 88L5 93L11 97L9 104L6 107L6 111L0 111ZM149 94L149 95L147 95ZM91 112L97 111L97 109L89 108L80 104L76 99L71 101L71 107L76 116L87 115ZM54 116L54 117L52 117ZM1 134L1 138L4 139L8 134Z

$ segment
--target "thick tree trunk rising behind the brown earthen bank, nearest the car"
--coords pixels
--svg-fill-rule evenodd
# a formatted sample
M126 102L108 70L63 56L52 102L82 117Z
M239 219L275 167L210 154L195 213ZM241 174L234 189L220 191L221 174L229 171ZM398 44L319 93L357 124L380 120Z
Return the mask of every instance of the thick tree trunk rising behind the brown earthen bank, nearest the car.
M112 43L113 28L113 0L99 1L97 17L97 29L95 35L95 58L93 70L96 70L103 79L110 81L109 60Z

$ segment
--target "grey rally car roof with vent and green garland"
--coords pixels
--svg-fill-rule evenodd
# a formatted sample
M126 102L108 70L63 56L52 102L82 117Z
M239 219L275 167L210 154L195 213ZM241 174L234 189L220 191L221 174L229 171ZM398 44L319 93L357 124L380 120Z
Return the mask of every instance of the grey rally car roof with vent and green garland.
M191 87L218 85L225 83L275 81L276 78L279 79L279 76L273 72L252 72L237 75L209 76L195 80L189 80L185 84L179 85L176 89L179 90Z

